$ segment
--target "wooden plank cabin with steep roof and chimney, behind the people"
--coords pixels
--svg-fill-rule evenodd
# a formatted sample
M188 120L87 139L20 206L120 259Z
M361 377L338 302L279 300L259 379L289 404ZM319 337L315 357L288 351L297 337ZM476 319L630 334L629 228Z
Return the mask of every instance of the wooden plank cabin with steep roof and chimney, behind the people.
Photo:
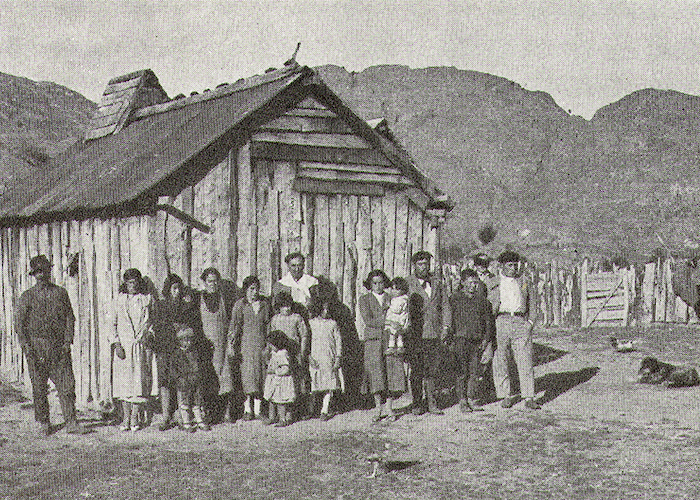
M358 117L308 67L174 99L150 70L115 78L84 140L0 199L0 371L26 379L13 315L37 254L73 303L85 407L111 399L104 339L125 269L160 289L169 269L199 287L215 266L269 293L299 250L354 310L372 268L404 276L413 252L439 256L452 206L386 121Z

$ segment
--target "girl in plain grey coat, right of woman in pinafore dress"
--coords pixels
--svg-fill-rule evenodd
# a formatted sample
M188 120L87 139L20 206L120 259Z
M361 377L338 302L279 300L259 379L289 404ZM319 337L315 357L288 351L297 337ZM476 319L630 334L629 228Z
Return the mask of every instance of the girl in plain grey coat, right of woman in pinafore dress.
M270 326L270 305L260 295L260 280L243 280L244 297L233 306L229 329L229 355L240 361L241 385L245 394L243 420L262 419L261 396L267 363L265 346Z

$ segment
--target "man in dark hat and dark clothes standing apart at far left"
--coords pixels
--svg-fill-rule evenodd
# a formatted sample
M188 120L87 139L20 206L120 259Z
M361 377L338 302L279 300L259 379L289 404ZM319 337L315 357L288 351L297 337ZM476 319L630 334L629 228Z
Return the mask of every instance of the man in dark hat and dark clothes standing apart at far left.
M75 316L65 288L51 283L51 263L33 257L29 274L36 285L22 293L17 307L17 337L24 350L32 381L34 418L44 435L51 433L48 380L56 386L66 432L83 434L75 413L75 377L71 362Z

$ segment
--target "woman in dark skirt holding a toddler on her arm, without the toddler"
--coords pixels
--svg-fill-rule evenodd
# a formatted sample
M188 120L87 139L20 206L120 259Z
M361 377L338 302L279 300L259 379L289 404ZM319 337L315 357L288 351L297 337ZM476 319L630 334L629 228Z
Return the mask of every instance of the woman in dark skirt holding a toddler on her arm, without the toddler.
M388 283L389 278L384 271L380 269L371 271L363 283L369 293L361 296L357 302L365 325L361 340L364 345L364 366L368 389L374 398L377 410L375 422L379 422L385 416L390 420L396 419L395 400L406 390L401 358L395 354L386 354L389 333L384 326L391 301L391 297L385 292ZM384 415L383 405L387 399L388 415Z

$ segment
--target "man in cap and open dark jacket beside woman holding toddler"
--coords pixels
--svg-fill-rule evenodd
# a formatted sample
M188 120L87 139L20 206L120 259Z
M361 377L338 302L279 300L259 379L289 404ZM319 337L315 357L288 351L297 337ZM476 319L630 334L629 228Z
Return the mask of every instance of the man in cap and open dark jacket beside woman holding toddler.
M416 252L411 257L413 275L406 279L409 327L404 344L411 367L414 415L425 413L426 406L430 413L442 414L435 401L435 378L440 369L442 343L448 338L451 314L447 291L430 274L432 258L430 252Z

